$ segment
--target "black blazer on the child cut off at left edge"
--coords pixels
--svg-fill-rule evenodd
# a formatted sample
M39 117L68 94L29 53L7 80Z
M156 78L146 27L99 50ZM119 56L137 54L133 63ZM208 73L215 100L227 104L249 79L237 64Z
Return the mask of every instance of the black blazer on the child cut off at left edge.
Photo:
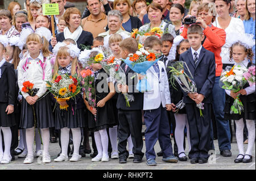
M9 62L5 62L1 67L0 78L0 103L7 103L8 105L15 104L16 91L15 91L15 71L14 65Z

